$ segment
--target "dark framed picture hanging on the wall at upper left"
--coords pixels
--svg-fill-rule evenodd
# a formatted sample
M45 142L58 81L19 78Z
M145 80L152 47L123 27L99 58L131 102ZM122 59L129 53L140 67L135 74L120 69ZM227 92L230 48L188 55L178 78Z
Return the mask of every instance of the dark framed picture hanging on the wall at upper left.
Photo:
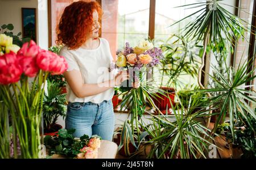
M31 38L36 42L35 8L22 8L22 38Z

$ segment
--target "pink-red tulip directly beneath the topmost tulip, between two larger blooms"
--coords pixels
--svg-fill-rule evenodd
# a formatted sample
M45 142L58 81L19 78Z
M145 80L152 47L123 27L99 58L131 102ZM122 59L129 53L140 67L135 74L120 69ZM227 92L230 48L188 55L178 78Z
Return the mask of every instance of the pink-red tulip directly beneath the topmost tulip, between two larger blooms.
M36 65L36 57L18 56L23 73L28 77L35 77L39 71Z

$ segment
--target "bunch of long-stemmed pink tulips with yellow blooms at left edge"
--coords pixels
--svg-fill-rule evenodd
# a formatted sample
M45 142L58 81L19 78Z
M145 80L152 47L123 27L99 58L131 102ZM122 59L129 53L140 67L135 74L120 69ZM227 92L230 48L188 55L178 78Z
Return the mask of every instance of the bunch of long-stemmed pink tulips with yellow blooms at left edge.
M37 158L45 82L48 74L62 74L68 64L63 56L40 49L32 40L20 49L12 42L13 38L0 35L2 106L11 115L14 157L18 157L18 138L20 157ZM6 128L9 126L0 124L0 131L6 131Z

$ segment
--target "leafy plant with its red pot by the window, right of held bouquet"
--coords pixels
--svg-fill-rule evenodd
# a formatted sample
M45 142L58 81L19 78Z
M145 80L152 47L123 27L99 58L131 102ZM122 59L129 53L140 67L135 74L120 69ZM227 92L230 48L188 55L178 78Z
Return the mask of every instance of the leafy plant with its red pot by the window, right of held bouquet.
M199 56L195 45L187 43L183 36L179 35L172 35L160 48L164 54L164 58L160 61L162 74L160 89L163 90L164 95L157 93L159 97L154 98L154 102L163 113L167 110L170 114L171 102L175 105L175 89L177 86L183 86L180 76L183 74L196 76ZM171 98L171 102L168 98Z

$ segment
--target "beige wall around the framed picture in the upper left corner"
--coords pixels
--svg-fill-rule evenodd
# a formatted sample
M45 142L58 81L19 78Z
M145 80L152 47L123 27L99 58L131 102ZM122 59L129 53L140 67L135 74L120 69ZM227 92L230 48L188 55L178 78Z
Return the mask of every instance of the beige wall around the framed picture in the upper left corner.
M38 28L38 0L0 0L0 25L12 23L14 34L22 32L22 7L36 8L36 27ZM36 35L38 42L38 30Z

